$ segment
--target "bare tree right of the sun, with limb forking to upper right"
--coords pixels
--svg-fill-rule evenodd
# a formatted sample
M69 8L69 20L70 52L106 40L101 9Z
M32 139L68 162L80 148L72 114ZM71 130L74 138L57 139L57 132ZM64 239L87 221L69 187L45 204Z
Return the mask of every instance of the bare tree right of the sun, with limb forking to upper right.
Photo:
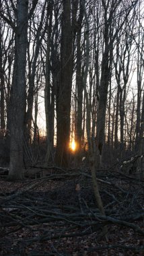
M137 1L134 3L129 3L127 11L125 11L124 16L118 15L122 20L118 27L113 26L114 32L112 37L110 37L110 28L112 27L113 22L115 22L116 11L124 11L125 6L121 7L121 0L119 1L104 1L102 0L102 9L104 11L104 50L102 53L102 66L101 66L101 80L99 87L99 103L98 103L98 115L97 115L97 129L96 129L96 146L97 146L97 166L100 166L100 158L102 156L102 148L105 141L105 121L106 121L106 104L108 97L108 86L110 82L110 51L116 36L120 32L121 28L124 26L125 21L131 13L131 9L137 4ZM125 75L125 73L124 73ZM127 74L126 74L127 76ZM126 79L127 80L127 79Z

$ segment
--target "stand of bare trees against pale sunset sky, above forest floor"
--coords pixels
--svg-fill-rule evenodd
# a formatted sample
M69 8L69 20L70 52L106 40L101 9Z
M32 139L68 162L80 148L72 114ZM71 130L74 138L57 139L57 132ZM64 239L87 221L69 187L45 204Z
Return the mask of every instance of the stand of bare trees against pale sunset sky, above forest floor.
M45 163L55 159L69 166L73 139L78 162L83 150L96 148L97 167L100 156L110 165L127 152L138 154L144 118L142 1L0 4L1 147L11 147L11 175L20 178L23 152L40 141L42 104Z

